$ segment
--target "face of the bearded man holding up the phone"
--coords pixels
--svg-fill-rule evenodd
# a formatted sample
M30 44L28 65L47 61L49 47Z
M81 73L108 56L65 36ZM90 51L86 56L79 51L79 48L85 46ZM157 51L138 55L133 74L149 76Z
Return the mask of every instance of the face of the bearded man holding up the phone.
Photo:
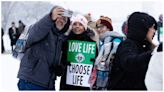
M67 17L63 17L63 16L60 16L60 17L57 17L56 19L56 27L61 30L64 28L65 24L67 23Z

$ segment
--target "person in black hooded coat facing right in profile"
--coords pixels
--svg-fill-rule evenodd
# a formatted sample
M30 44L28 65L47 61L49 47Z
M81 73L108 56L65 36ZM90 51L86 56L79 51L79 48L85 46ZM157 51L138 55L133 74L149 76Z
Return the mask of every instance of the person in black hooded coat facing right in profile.
M129 16L127 39L118 46L108 90L146 90L144 79L156 46L152 42L156 30L152 16L144 12Z

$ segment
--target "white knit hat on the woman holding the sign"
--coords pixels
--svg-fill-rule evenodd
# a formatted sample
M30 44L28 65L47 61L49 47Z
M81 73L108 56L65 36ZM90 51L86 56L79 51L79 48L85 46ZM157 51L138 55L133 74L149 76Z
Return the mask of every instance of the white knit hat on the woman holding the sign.
M80 22L84 26L85 30L87 30L88 21L84 16L80 14L72 16L71 22L71 25L73 25L75 22Z

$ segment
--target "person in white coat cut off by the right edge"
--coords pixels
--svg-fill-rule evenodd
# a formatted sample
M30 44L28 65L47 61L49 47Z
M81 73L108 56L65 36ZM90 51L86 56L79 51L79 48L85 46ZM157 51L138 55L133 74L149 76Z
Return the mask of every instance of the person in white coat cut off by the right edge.
M146 72L145 85L147 90L163 90L163 43L160 43L152 53L149 67Z

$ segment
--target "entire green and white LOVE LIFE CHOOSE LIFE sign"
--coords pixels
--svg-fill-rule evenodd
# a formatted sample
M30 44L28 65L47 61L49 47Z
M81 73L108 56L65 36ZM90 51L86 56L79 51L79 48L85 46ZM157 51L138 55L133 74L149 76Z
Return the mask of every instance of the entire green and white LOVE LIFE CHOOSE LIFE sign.
M69 40L67 61L71 65L67 66L66 84L90 87L88 83L93 62L91 58L96 55L96 42Z

